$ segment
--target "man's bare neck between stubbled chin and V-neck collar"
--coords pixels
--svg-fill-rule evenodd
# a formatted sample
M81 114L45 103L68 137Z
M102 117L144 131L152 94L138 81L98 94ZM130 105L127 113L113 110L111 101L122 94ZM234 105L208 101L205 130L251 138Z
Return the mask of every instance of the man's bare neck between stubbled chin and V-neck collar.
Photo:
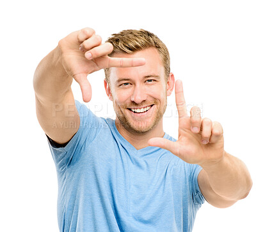
M125 140L129 141L129 143L131 143L131 145L135 147L137 150L148 147L148 140L150 138L163 138L164 136L163 119L159 121L156 127L154 127L151 131L148 131L147 133L135 133L133 131L128 131L117 121L118 120L116 119L115 124L118 132L125 138Z

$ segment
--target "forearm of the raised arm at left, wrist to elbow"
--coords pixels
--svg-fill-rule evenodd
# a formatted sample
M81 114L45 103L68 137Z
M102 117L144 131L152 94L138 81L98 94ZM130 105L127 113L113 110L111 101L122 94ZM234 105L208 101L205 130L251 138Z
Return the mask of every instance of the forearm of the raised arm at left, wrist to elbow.
M36 68L33 78L36 97L41 102L60 103L71 90L72 79L61 64L57 47Z

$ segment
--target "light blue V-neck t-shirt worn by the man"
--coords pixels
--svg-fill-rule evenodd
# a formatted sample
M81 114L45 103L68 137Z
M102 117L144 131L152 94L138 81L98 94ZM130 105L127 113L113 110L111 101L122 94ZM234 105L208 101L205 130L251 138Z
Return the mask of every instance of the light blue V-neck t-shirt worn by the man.
M49 146L58 175L60 231L192 231L205 199L202 168L168 150L136 150L115 126L76 101L77 133ZM168 134L164 138L175 141Z

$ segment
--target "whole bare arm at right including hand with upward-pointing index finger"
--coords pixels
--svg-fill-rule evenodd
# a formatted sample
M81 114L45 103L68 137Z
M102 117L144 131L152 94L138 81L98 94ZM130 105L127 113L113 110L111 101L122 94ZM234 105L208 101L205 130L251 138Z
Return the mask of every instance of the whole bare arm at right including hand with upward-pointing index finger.
M183 161L198 164L203 170L198 184L207 201L219 208L229 207L245 198L252 188L252 179L242 161L224 150L223 129L219 122L201 119L200 108L191 108L188 116L182 82L175 83L179 112L179 139L152 138L150 146L170 150Z

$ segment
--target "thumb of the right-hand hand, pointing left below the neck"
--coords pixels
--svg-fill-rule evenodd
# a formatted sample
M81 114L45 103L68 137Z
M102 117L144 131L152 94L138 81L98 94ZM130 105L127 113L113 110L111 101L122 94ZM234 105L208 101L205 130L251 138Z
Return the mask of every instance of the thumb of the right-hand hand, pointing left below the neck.
M179 156L179 142L170 141L166 138L150 138L148 140L148 145L153 147L161 147L161 149L166 149L172 152L175 156Z

